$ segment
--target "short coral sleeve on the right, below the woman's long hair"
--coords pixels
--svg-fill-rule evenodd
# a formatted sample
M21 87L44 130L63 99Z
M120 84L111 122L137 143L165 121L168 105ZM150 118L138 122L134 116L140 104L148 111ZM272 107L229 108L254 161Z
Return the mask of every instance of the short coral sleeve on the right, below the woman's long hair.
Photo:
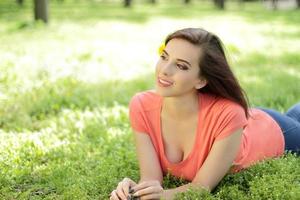
M224 139L248 123L244 108L238 104L228 103L219 112L215 140Z

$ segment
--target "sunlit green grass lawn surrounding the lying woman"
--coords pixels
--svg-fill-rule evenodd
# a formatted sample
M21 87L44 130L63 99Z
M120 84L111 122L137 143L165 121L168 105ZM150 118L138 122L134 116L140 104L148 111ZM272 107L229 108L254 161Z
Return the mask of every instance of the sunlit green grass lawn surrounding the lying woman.
M153 87L157 48L179 28L222 38L252 106L299 101L298 10L145 2L51 1L47 26L32 21L32 1L0 2L0 199L108 199L124 177L138 181L128 102ZM292 200L299 187L300 158L287 154L178 198Z

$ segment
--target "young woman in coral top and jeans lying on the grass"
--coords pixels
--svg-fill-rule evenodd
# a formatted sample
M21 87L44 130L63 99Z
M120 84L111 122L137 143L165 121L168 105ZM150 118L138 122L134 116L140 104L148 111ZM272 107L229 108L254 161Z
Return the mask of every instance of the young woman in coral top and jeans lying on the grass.
M216 35L199 28L170 34L155 78L155 90L136 94L129 106L140 181L125 178L110 199L212 191L227 173L285 150L299 153L300 103L286 114L248 108ZM167 173L190 183L164 190Z

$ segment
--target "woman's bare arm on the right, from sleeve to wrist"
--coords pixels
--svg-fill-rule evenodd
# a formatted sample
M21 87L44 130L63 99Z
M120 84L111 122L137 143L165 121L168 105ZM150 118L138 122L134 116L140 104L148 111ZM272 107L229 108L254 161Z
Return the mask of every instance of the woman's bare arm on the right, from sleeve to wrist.
M164 197L168 200L173 199L176 193L184 192L189 187L212 191L232 166L239 151L241 136L242 129L240 128L230 136L216 141L193 181L190 184L165 190Z

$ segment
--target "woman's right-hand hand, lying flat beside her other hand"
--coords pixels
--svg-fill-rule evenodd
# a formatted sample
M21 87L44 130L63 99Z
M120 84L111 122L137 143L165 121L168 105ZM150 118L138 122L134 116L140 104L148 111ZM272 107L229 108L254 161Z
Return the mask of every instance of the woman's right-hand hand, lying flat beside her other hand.
M164 189L159 181L144 181L134 186L133 197L140 197L140 200L160 199L164 197Z

